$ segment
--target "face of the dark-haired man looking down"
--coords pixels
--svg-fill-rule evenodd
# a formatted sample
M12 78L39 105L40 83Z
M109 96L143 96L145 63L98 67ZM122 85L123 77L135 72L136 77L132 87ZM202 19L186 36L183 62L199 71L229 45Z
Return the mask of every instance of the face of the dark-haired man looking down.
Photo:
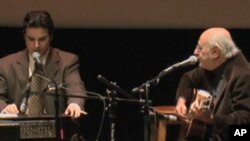
M42 27L29 27L25 29L24 39L29 53L39 52L41 56L50 48L51 36L48 29Z

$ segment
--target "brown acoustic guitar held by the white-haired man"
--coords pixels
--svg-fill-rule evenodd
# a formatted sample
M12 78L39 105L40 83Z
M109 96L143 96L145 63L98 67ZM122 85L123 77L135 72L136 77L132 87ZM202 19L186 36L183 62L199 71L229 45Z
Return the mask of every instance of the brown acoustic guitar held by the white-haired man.
M211 120L213 97L204 90L195 90L195 100L192 102L189 112L183 118L181 138L203 140L207 131L207 125Z

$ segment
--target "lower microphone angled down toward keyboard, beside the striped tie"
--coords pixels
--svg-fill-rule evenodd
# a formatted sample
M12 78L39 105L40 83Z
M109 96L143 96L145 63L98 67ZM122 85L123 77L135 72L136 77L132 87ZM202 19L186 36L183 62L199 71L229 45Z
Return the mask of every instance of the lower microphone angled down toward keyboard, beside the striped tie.
M28 98L30 95L30 82L27 83L26 87L23 90L23 100L20 104L20 113L24 114L28 107Z

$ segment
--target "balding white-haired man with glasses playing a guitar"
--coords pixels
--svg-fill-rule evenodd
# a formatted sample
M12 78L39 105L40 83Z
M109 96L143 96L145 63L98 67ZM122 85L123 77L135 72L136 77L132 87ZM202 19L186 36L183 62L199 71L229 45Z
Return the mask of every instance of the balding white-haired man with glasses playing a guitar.
M210 127L203 128L208 129L203 133L196 130L192 133L195 137L204 135L203 140L227 141L230 125L250 123L249 62L229 31L221 27L209 28L201 34L194 55L199 66L181 78L176 111L192 119L189 125L199 121L196 123Z

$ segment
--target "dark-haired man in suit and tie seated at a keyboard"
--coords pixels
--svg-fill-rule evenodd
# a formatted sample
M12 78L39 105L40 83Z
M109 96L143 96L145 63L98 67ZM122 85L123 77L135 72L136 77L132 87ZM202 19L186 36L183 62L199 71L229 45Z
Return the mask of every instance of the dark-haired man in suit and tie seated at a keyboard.
M34 52L40 55L40 63L43 66L44 77L54 82L60 82L67 86L67 89L60 89L60 93L66 95L84 96L85 87L79 74L79 59L76 55L56 48L52 48L54 24L51 16L46 11L29 12L23 20L23 36L26 49L10 54L0 59L0 111L2 113L20 113L20 106L23 104L23 90L34 77L37 67L37 60L34 59ZM38 56L39 57L39 56ZM42 101L40 114L54 114L54 96L43 95L51 93L48 89L50 81L42 80L39 85L38 97ZM32 81L31 81L32 83ZM32 86L32 85L31 85ZM31 99L32 93L28 97ZM32 102L27 100L27 110L22 111L29 114ZM59 112L72 117L79 117L86 114L84 111L84 100L73 97L59 97Z

